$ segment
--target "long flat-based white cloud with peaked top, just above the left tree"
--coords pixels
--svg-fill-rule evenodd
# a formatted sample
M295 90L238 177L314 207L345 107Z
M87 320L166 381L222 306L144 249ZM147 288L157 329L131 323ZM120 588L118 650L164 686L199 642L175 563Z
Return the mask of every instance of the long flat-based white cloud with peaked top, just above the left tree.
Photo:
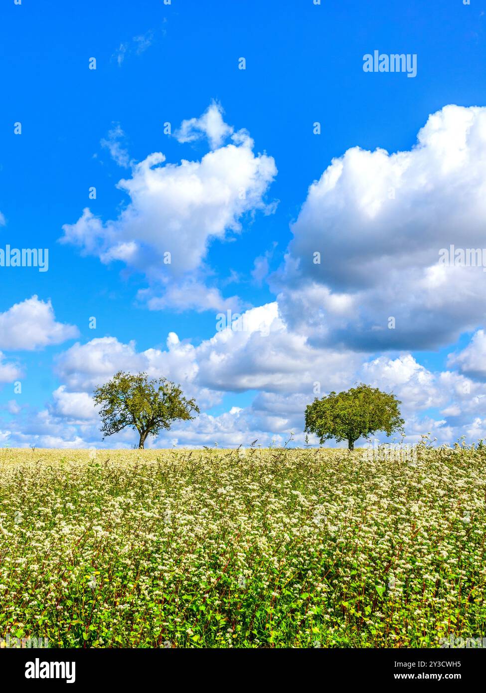
M175 333L169 333L165 350L139 352L134 342L123 344L116 337L73 344L57 359L55 371L62 388L55 398L90 394L116 371L125 370L175 380L203 408L220 403L225 392L252 389L282 396L301 393L302 405L304 399L313 399L316 388L329 392L345 387L360 363L355 353L309 347L305 337L286 330L277 304L272 303L247 310L198 346L181 342ZM297 401L294 398L294 405Z

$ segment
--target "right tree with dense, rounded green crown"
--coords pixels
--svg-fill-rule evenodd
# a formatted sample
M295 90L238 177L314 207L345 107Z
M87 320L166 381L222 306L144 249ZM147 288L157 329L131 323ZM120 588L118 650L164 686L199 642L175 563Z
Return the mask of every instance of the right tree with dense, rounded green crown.
M330 392L306 407L306 433L315 433L320 444L329 438L347 440L349 450L361 438L370 437L376 431L391 435L403 434L400 416L401 402L393 394L381 392L377 387L357 385L346 392Z

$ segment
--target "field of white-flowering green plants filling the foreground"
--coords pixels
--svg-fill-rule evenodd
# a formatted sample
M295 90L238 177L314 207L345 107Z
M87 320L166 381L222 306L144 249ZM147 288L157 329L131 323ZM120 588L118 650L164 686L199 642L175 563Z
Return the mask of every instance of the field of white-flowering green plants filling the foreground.
M0 450L0 638L440 647L486 635L486 451Z

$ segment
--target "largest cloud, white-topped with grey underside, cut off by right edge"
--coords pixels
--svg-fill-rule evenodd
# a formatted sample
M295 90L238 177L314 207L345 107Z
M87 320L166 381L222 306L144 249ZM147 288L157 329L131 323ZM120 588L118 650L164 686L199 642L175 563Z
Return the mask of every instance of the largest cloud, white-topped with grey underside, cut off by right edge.
M444 107L410 151L333 159L273 277L288 323L369 351L437 347L478 326L486 274L441 264L440 250L483 246L485 179L483 107Z

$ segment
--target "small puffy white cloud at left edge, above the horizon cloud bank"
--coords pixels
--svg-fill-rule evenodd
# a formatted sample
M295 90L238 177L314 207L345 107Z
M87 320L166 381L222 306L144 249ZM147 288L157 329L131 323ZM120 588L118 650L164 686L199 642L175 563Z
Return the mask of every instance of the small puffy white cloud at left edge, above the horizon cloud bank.
M0 313L0 349L32 351L78 336L78 328L56 322L51 301L37 296Z

